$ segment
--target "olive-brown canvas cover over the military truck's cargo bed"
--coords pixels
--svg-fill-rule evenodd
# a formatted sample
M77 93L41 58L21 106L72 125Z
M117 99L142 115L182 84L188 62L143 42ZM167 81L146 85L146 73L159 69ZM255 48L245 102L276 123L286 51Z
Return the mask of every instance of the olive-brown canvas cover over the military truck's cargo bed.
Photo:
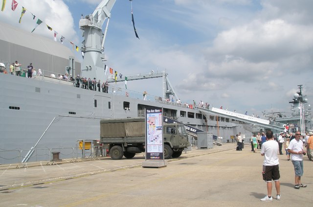
M145 136L144 118L106 119L100 121L100 137Z

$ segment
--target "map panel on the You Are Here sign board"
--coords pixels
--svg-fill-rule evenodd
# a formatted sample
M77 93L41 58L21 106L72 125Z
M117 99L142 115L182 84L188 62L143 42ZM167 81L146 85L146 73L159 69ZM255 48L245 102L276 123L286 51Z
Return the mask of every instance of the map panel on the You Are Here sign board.
M147 152L162 152L162 114L147 114Z

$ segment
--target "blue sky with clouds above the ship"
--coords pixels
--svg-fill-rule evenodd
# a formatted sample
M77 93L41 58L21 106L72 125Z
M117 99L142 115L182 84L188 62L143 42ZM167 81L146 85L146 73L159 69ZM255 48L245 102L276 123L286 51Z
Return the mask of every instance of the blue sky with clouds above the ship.
M13 12L6 1L1 21L31 31L31 12L80 47L79 19L101 0L17 2ZM19 24L21 5L27 12ZM290 114L300 84L313 104L312 0L133 0L132 6L140 39L131 1L116 0L111 10L105 56L118 73L165 70L183 103L260 117ZM34 33L53 38L42 25ZM127 88L162 96L162 79L128 81Z

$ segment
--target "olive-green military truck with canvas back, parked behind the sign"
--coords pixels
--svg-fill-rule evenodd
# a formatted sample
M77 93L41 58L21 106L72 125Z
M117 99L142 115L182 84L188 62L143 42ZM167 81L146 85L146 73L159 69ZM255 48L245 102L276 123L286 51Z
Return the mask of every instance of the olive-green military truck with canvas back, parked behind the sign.
M164 158L179 157L190 146L183 124L163 124ZM145 151L145 119L122 118L100 121L100 142L107 145L113 160L133 158Z

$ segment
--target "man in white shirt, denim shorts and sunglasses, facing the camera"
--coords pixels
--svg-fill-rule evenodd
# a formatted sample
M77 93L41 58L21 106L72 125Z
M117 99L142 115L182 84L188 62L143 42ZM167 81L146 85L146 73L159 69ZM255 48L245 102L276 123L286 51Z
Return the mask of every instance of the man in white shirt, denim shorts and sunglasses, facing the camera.
M292 139L288 146L288 152L291 153L291 162L294 167L294 188L305 188L307 185L301 183L301 176L303 175L303 142L300 140L301 132L295 132L295 138Z

